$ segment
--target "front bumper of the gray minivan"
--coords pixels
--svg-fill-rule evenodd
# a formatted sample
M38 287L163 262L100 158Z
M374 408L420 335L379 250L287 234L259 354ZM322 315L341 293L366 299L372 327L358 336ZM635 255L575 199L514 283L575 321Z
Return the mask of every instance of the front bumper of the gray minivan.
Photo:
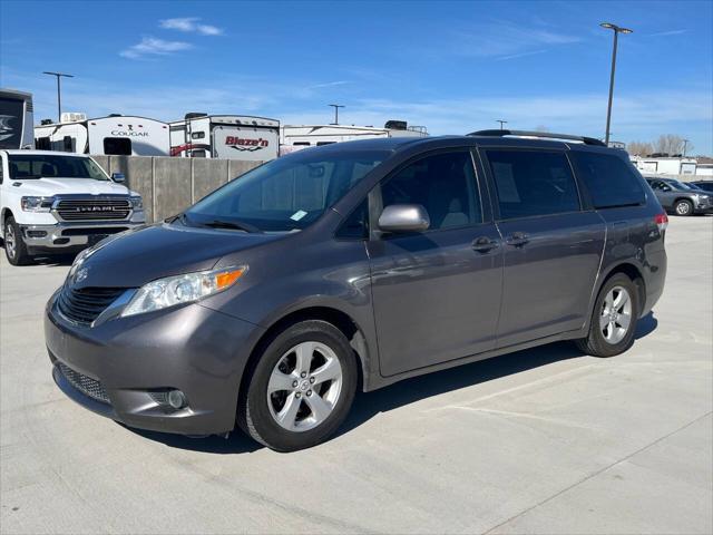
M241 379L262 328L195 303L84 328L57 314L56 296L45 339L55 381L69 398L140 429L221 435L235 427ZM162 403L157 393L167 389L182 390L187 406Z

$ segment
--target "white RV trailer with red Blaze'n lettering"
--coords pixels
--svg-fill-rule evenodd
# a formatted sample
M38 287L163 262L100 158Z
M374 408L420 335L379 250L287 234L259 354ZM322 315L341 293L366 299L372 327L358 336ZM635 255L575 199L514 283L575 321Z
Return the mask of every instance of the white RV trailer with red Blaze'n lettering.
M280 121L241 115L187 114L170 123L170 155L267 162L277 157Z

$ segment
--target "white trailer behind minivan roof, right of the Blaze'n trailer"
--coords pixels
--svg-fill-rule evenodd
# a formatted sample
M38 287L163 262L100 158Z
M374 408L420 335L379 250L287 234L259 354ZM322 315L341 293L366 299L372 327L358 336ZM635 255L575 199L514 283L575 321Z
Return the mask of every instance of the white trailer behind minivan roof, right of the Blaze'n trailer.
M280 152L287 154L302 148L332 143L375 137L426 137L424 126L408 126L403 120L389 120L383 128L349 125L285 125L280 129Z

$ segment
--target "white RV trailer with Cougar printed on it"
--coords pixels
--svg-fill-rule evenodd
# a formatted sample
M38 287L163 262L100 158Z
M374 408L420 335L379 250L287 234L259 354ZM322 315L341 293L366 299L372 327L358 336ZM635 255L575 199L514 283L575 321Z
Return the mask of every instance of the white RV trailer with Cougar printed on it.
M160 120L129 115L87 119L80 114L62 114L62 118L80 120L36 126L35 140L38 148L95 155L170 154L168 124Z

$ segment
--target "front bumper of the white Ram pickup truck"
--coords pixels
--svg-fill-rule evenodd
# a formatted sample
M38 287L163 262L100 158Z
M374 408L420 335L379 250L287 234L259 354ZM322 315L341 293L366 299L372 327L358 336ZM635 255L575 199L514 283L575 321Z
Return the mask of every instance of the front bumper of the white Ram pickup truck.
M143 221L107 221L57 223L52 225L20 225L29 252L61 253L69 249L94 245L108 235L141 226Z

